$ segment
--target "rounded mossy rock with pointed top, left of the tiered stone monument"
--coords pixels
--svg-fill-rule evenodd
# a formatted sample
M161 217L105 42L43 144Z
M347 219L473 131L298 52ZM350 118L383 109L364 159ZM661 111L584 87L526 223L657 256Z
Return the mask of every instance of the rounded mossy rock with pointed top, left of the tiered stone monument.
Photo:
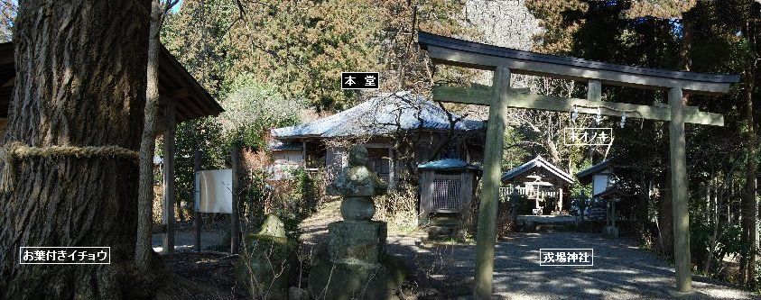
M291 274L297 271L298 245L286 238L249 234L235 267L238 285L255 298L287 299Z

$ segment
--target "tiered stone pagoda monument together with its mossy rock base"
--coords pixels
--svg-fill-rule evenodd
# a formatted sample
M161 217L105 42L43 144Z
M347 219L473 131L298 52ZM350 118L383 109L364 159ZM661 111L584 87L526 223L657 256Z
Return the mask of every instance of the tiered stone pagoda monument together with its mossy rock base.
M385 253L386 225L371 221L374 195L386 185L367 168L367 150L349 150L348 167L327 187L340 195L344 221L328 225L328 249L315 259L309 277L311 295L326 299L388 299L404 281L404 262Z

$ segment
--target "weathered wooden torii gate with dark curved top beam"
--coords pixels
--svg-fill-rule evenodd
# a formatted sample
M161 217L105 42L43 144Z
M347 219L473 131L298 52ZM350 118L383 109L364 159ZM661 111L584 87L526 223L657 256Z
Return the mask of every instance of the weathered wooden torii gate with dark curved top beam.
M738 75L716 75L678 72L656 68L639 68L570 57L513 50L483 43L463 41L418 33L418 43L434 63L494 71L490 87L460 88L435 86L433 100L471 105L489 105L486 149L484 150L483 186L476 236L476 298L490 298L494 284L494 245L497 200L503 154L506 109L526 108L580 114L606 114L668 121L673 201L673 253L676 264L677 293L691 291L690 215L687 207L687 162L685 157L684 123L724 125L721 114L705 113L697 107L685 106L682 93L721 95L729 92L729 84L739 81ZM587 81L587 99L551 95L531 95L510 88L510 74ZM601 84L635 86L668 91L668 105L654 103L630 105L601 101Z

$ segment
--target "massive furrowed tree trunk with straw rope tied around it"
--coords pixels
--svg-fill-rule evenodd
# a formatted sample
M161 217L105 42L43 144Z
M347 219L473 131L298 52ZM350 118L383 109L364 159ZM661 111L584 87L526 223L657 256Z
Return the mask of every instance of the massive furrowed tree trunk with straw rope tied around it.
M142 7L141 7L142 5ZM116 145L143 129L147 0L21 1L5 143ZM7 168L7 167L5 167ZM133 298L135 162L30 158L0 198L0 298ZM20 246L109 246L109 265L24 265Z

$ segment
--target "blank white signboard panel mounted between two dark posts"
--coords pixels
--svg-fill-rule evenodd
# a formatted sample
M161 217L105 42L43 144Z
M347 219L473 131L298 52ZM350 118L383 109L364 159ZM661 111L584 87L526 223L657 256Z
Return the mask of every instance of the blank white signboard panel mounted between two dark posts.
M196 172L195 207L200 213L233 213L233 170Z

